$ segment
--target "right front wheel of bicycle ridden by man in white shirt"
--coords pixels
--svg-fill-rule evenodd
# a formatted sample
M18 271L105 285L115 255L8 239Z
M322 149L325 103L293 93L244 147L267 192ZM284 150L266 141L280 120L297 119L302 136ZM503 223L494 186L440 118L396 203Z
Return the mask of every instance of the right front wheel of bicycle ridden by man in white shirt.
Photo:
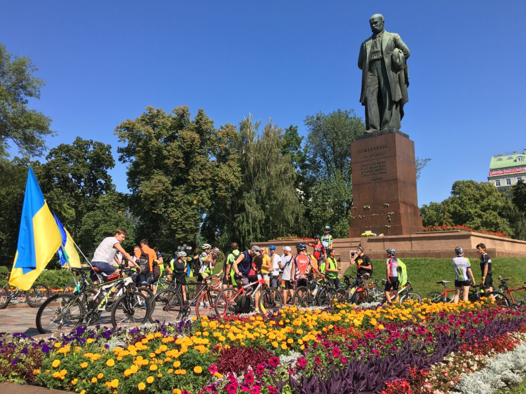
M126 292L112 307L113 327L135 328L150 317L148 298L139 292Z

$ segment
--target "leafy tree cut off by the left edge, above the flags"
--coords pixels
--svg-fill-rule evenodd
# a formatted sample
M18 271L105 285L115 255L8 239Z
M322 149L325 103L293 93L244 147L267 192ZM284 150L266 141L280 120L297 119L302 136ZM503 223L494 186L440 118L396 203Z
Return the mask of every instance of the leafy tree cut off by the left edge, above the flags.
M33 74L37 68L28 57L12 56L0 44L0 156L11 140L24 154L39 155L44 137L52 134L51 119L27 107L30 98L40 98L44 81Z

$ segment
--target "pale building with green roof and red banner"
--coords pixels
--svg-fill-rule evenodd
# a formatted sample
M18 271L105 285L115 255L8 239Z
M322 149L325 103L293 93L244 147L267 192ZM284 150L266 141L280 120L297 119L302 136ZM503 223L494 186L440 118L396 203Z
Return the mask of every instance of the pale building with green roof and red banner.
M488 182L497 189L509 189L521 180L526 182L526 149L523 153L500 153L491 158Z

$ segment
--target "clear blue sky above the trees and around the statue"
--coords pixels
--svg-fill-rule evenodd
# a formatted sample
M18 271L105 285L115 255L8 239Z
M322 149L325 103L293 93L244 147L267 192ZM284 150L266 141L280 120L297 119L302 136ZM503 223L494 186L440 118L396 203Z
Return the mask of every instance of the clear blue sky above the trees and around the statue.
M318 111L363 116L358 51L382 13L411 50L402 131L432 159L421 205L456 180L486 181L491 155L526 148L525 4L17 0L2 4L0 42L46 81L31 105L53 118L48 147L80 136L116 152L115 127L148 105L203 108L216 127L251 113L302 134ZM127 191L124 165L112 175Z

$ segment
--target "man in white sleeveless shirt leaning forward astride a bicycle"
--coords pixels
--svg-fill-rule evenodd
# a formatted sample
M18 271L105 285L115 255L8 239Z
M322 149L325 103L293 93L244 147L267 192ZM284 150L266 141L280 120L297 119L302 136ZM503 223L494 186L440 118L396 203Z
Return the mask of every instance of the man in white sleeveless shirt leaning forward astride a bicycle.
M113 262L119 263L118 258L115 256L117 252L123 254L126 259L133 264L138 271L140 272L139 265L133 261L131 256L124 250L120 245L126 238L127 231L123 229L118 229L115 232L113 237L106 237L93 253L93 258L91 261L92 267L97 267L99 273L104 273L107 275L117 274L119 269L115 269L112 265ZM89 273L89 277L92 279L93 283L98 283L98 277L95 271L92 269Z

